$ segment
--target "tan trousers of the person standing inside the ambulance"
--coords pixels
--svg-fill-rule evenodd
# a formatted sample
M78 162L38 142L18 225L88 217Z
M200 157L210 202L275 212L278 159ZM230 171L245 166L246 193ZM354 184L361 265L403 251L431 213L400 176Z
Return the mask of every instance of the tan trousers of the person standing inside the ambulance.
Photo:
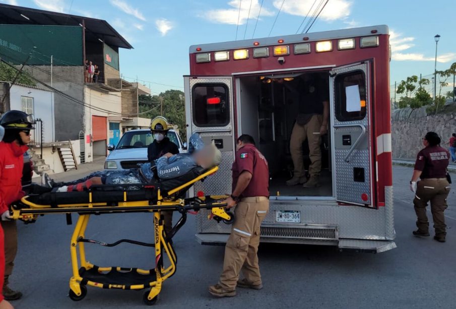
M310 177L318 177L321 171L321 137L320 127L323 122L323 115L313 115L304 126L296 122L291 133L290 152L294 165L294 177L305 176L304 159L302 156L302 143L307 140L309 143L309 174Z

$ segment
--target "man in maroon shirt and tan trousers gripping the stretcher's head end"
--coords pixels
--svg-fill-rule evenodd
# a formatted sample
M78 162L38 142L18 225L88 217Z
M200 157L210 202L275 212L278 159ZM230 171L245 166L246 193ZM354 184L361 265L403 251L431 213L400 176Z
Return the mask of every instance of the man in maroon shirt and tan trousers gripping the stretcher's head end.
M263 288L257 251L259 227L269 210L269 168L253 138L246 134L237 140L233 191L225 203L226 208L237 205L225 247L222 275L216 285L209 287L209 292L217 297L235 296L236 286L255 290ZM239 280L241 270L244 278Z

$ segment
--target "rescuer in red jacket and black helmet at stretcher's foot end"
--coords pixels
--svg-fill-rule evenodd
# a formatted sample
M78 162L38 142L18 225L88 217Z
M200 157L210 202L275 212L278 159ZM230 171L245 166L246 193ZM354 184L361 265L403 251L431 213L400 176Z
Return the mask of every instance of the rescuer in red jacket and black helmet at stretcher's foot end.
M15 220L10 220L9 205L24 196L22 191L22 169L24 167L24 153L30 143L30 130L34 129L35 121L32 115L19 110L7 111L0 118L0 125L5 128L5 136L0 142L0 213L2 214L2 229L5 236L0 236L3 261L0 280L4 280L3 297L7 300L16 300L22 293L14 291L8 286L8 278L13 271L14 259L18 250L18 234ZM3 234L2 232L2 234ZM5 250L3 247L5 246Z

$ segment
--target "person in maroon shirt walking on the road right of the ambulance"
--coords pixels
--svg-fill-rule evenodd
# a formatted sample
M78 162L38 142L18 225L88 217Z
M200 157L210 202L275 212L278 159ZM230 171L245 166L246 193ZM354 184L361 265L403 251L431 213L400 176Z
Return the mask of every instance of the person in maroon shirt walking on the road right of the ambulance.
M410 189L415 192L413 204L418 218L416 221L418 229L413 231L413 234L415 236L429 236L426 206L430 202L435 229L434 239L445 242L446 225L443 212L447 208L446 198L450 191L449 182L446 178L450 155L439 144L440 137L435 132L428 132L423 138L425 148L417 155ZM418 178L421 180L418 181Z

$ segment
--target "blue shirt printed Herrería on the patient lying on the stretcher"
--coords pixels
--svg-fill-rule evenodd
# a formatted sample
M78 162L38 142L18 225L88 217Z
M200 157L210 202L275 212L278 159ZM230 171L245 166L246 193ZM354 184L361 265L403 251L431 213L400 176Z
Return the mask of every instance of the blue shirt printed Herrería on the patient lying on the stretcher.
M182 153L173 155L170 158L160 157L156 160L158 177L162 179L176 178L188 173L193 168L197 167L197 162L194 161L191 154L204 147L204 142L201 137L194 133L190 137L188 146L188 154Z

